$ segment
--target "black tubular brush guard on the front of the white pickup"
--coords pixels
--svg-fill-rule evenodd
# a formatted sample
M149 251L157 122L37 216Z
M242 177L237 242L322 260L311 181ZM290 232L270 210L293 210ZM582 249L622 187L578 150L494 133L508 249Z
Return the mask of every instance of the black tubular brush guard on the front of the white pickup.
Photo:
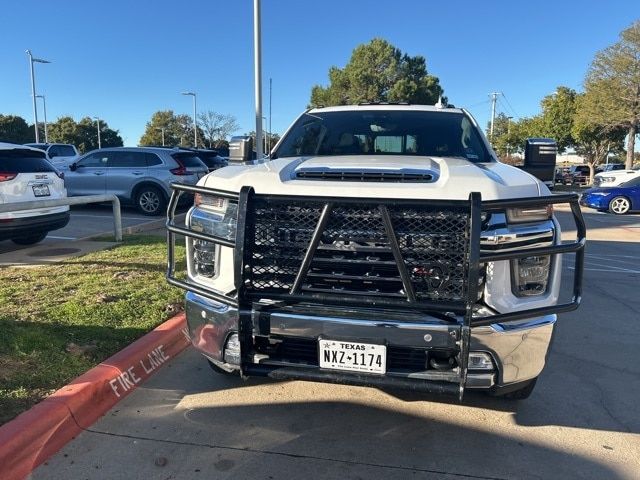
M177 287L238 309L240 315L238 334L242 353L240 368L242 374L245 375L264 375L277 379L301 378L352 385L399 386L431 393L450 393L459 395L461 398L467 378L471 327L569 312L578 308L581 302L586 228L578 205L578 195L576 194L483 202L480 194L477 192L471 193L469 199L464 201L344 197L306 198L288 195L256 194L251 187L243 187L239 194L224 190L180 184L173 184L172 188L173 193L168 206L166 223L168 237L167 281ZM204 234L176 225L175 209L183 193L212 195L238 202L237 233L235 240ZM297 235L296 229L292 228L291 224L287 226L286 218L278 215L277 208L275 210L272 208L278 205L280 207L283 205L291 205L297 208L299 205L311 203L316 207L315 211L318 213L317 219L314 218L315 226L312 229L312 234L302 238ZM482 215L490 214L491 212L504 212L508 208L540 207L552 204L570 205L577 228L577 238L575 241L545 247L526 248L517 251L481 251L480 234ZM396 212L394 217L396 210L401 210L401 212L399 214ZM386 237L384 239L386 240L386 250L390 250L393 259L392 262L387 261L386 263L395 264L402 285L402 298L399 298L397 294L390 295L388 292L380 294L373 294L371 292L344 294L338 293L338 291L326 291L326 289L322 291L322 289L310 288L309 285L313 286L313 283L309 283L309 271L312 268L314 256L323 248L320 245L321 242L323 242L323 236L326 236L328 231L331 230L334 236L330 236L327 241L331 242L334 241L335 238L339 238L340 227L337 224L345 220L353 220L354 218L357 222L357 215L351 214L351 216L349 216L349 212L354 211L375 212L376 217L380 220L380 232ZM258 218L257 212L260 213L260 218ZM259 231L262 228L260 219L264 220L265 212L271 215L269 220L274 225L268 233L265 234L265 232L262 232L261 235L260 233L256 233L256 230ZM437 289L427 290L426 292L424 289L422 291L420 290L422 284L416 283L414 275L418 267L409 271L407 267L411 267L411 260L403 258L403 253L405 256L407 255L409 239L413 238L416 233L412 232L412 235L408 236L406 235L406 231L402 230L402 227L398 228L399 222L402 223L412 214L422 213L423 215L431 215L433 217L437 215L438 212L449 212L449 214L457 216L458 222L454 222L456 229L448 231L447 233L450 238L457 238L460 235L464 238L463 248L461 250L460 248L456 249L456 256L452 256L454 254L451 252L445 252L449 255L448 258L453 260L459 267L459 270L461 268L462 270L460 271L463 272L462 283L460 284L458 281L454 286L449 284L449 288L445 292L446 294L438 292ZM334 215L333 218L332 214ZM335 218L336 216L337 218ZM440 217L442 217L442 215L440 215ZM283 222L285 227L278 226ZM397 228L398 232L396 232ZM178 279L175 274L174 246L176 234L233 248L235 291L223 294L200 284ZM260 267L256 265L264 259L265 250L261 253L260 248L276 248L275 245L264 245L265 239L267 238L275 242L276 235L279 236L279 240L283 242L283 245L277 246L277 248L280 249L279 251L287 250L289 244L295 244L298 245L298 247L300 247L301 242L304 244L304 248L294 252L295 255L293 255L293 257L297 258L298 262L295 271L279 267L278 274L280 274L280 277L274 276L264 281L260 279L256 280L256 272L263 274L270 272L271 267L267 266L260 269ZM373 242L379 242L380 240L380 238L373 239ZM263 245L260 245L261 243ZM377 245L378 243L375 244ZM458 245L458 247L460 247L460 245ZM266 251L269 251L269 249L267 248ZM575 264L573 295L570 302L517 312L497 313L481 317L474 316L474 307L478 302L480 293L481 271L486 263L572 252L575 253ZM432 256L437 254L442 254L442 251L435 249ZM289 258L289 260L291 260L291 258ZM256 265L254 265L254 263ZM282 272L285 270L288 272L285 272L286 280L282 280ZM460 271L458 273L460 273ZM331 277L330 275L328 276ZM349 374L293 367L273 367L256 364L253 362L254 326L251 312L261 308L259 304L260 300L275 301L278 302L279 305L304 303L326 306L379 307L418 310L440 314L441 317L443 317L442 314L450 313L460 315L463 321L462 324L459 325L458 335L459 373L456 374L455 382L451 381L452 379L448 379L449 381L447 382L415 381L386 376ZM443 318L447 317L444 316ZM457 322L455 317L450 318L452 322Z

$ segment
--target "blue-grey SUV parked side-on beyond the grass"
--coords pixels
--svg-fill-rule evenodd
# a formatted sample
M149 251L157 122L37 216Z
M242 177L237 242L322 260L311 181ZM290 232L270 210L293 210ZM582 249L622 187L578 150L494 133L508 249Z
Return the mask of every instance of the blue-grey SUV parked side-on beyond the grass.
M94 150L69 170L70 196L115 194L144 215L164 213L171 183L195 185L209 171L194 152L159 147Z

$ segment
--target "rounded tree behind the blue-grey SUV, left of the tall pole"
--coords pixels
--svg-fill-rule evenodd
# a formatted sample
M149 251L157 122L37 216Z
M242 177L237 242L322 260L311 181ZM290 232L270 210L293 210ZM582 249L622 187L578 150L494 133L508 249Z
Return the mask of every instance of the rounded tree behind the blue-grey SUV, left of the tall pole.
M140 137L140 145L162 145L167 147L193 147L193 119L189 115L175 115L173 110L161 110L151 116L144 134ZM202 146L204 133L198 128L198 145Z

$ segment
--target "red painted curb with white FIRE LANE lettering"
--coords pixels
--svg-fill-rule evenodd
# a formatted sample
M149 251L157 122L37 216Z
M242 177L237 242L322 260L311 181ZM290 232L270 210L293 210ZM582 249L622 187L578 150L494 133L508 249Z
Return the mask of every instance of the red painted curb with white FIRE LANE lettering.
M79 376L0 427L0 478L20 480L88 428L189 341L184 314Z

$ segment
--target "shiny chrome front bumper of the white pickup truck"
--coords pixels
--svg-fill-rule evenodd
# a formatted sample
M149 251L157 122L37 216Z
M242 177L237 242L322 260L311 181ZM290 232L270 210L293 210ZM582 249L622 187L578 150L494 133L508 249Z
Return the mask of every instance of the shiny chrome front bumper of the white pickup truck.
M352 312L353 313L353 312ZM294 338L355 337L383 339L406 347L452 348L456 325L435 317L422 316L420 323L406 318L390 318L367 311L368 318L338 315L308 315L297 312L273 312L270 333ZM207 300L194 293L186 295L186 316L193 345L219 367L237 368L224 362L224 347L230 334L238 330L238 310ZM254 321L254 329L258 320ZM508 387L536 378L544 368L553 336L556 315L545 315L505 324L472 327L471 352L486 352L495 363L493 372L470 371L467 388ZM453 333L452 333L453 332ZM428 339L428 340L427 340ZM419 374L408 378L420 379Z

